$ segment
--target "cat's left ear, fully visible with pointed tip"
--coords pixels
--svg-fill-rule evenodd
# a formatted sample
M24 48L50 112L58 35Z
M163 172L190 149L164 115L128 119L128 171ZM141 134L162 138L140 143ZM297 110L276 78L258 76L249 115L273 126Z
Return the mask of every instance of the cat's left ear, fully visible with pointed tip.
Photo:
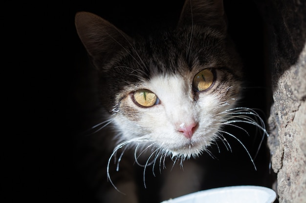
M115 53L125 49L131 38L109 21L88 12L75 15L77 33L95 68L100 69Z

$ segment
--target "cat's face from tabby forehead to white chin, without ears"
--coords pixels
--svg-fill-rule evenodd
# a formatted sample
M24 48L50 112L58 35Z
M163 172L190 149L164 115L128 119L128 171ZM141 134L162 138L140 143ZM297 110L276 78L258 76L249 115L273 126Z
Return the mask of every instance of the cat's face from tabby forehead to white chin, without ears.
M209 46L206 41L213 39L218 45ZM113 100L112 116L121 141L142 137L149 140L147 145L153 143L185 157L205 150L225 120L224 111L239 99L240 81L235 73L239 67L230 60L222 40L222 36L212 34L197 41L189 47L191 54L195 52L190 59L186 59L188 46L184 43L168 44L166 60L158 48L133 44L134 51L129 53L134 54L127 56L130 59L114 65L125 64L129 67L125 73L109 70L110 81L123 81L123 87L116 90L119 93ZM169 57L175 63L169 63Z

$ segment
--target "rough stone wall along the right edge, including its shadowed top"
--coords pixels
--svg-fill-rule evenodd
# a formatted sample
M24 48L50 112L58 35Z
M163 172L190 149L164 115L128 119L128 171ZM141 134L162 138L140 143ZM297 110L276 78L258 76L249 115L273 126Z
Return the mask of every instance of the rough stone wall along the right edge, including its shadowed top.
M280 203L306 203L306 1L268 0L267 67L273 104L268 146Z

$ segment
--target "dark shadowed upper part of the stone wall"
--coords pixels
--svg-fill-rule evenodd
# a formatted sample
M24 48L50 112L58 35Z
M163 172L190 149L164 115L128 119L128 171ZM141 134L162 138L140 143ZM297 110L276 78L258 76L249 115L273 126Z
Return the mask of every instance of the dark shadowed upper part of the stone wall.
M255 0L265 24L266 63L272 87L294 65L306 42L306 3L291 0Z

